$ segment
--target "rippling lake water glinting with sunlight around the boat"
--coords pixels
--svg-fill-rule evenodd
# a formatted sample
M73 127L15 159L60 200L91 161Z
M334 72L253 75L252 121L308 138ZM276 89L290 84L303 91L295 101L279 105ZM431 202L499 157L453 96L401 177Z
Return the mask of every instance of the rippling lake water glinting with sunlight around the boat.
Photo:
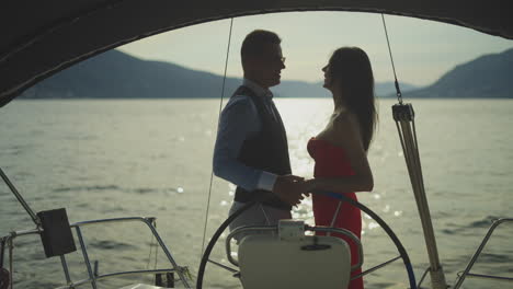
M394 103L379 101L379 129L368 154L375 189L358 198L395 230L419 279L428 257L391 119ZM326 125L332 102L286 99L276 104L289 138L293 171L309 177L314 162L306 143ZM490 221L513 216L513 101L415 100L413 105L440 257L447 281L454 285ZM0 111L0 166L34 210L65 207L70 222L157 217L175 259L195 276L218 107L218 100L15 101ZM232 194L233 186L214 178L207 236L227 217ZM307 200L295 217L311 223L310 209ZM34 228L4 185L0 185L0 220L1 235ZM364 269L398 255L385 232L365 216L363 230ZM87 228L84 238L100 274L164 266L161 251L157 262L149 261L151 238L140 224ZM511 238L513 226L500 229L474 271L512 277ZM50 288L65 281L59 259L45 259L38 238L19 238L15 244L15 288ZM226 263L223 244L216 246L213 259ZM68 263L79 266L71 275L75 280L87 276L81 255L70 254ZM397 262L367 276L366 288L407 288L406 277ZM103 282L105 288L123 284ZM212 265L205 285L239 287L231 274ZM485 287L509 285L467 279L464 286Z

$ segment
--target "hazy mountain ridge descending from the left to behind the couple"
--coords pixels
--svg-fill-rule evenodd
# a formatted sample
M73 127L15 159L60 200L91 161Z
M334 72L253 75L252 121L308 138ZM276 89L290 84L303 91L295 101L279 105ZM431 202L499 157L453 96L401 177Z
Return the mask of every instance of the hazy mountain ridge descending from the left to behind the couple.
M241 83L227 78L225 97ZM415 86L402 84L403 90ZM223 77L174 63L146 61L110 50L79 62L29 89L24 99L171 99L219 97ZM282 81L272 88L281 97L329 97L321 82ZM394 83L376 83L376 94L394 92Z

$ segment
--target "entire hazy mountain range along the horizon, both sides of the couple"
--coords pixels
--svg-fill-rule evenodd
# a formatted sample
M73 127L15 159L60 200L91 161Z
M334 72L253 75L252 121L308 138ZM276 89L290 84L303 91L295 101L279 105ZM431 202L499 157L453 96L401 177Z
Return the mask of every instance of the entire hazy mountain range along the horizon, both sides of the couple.
M425 88L400 82L406 97L513 97L513 48L456 66ZM225 97L241 83L227 78ZM146 61L110 50L77 63L25 91L27 99L219 97L223 77L174 63ZM329 97L321 82L283 81L282 97ZM394 82L377 82L376 95L395 97Z

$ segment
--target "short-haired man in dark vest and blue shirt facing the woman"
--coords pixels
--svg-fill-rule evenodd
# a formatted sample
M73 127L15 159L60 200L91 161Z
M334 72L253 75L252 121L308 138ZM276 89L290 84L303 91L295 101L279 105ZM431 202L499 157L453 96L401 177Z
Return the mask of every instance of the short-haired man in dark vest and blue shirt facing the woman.
M280 37L256 30L242 43L243 84L223 109L214 149L214 173L237 190L230 215L251 200L262 200L230 224L276 224L290 219L303 198L303 177L290 174L287 137L269 88L285 68Z

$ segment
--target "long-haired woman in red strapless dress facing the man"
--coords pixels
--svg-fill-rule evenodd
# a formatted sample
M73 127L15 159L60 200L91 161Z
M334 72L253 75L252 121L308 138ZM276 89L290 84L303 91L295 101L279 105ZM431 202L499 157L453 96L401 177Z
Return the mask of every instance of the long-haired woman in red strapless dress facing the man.
M309 192L334 192L356 200L354 192L369 192L374 186L367 161L377 122L371 61L362 49L342 47L333 53L322 71L323 86L333 95L334 112L326 128L308 142L308 152L316 164L314 178L307 185ZM314 194L312 200L317 226L347 229L360 239L360 209L323 195ZM337 236L350 244L351 263L355 264L356 245L343 235ZM360 273L355 270L352 276ZM349 288L363 288L362 278L351 281Z

